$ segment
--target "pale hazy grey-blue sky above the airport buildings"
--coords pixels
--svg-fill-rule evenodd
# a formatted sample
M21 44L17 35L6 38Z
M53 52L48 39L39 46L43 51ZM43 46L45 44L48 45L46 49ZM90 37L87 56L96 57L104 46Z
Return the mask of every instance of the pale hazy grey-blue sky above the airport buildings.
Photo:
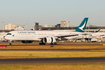
M0 29L7 23L30 29L34 22L55 25L62 20L78 26L84 17L91 25L105 26L105 0L0 0Z

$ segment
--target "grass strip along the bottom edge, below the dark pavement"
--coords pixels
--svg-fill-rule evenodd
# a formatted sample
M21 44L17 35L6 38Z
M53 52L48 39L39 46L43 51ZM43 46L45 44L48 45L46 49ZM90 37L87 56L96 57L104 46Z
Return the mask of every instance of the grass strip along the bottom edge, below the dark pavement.
M0 65L0 70L105 70L105 64Z

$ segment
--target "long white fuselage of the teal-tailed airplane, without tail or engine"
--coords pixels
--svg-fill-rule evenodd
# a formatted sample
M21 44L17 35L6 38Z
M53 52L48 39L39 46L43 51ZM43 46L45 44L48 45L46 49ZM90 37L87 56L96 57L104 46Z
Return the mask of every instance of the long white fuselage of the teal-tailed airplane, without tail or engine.
M7 40L39 40L44 37L60 37L66 35L80 34L80 32L70 31L11 31L10 35L6 35Z

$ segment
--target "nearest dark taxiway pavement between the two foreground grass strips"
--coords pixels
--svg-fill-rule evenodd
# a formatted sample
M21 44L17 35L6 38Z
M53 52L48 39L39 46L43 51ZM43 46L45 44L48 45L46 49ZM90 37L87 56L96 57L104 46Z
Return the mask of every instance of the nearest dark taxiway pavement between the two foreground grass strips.
M2 64L105 64L105 57L0 59Z

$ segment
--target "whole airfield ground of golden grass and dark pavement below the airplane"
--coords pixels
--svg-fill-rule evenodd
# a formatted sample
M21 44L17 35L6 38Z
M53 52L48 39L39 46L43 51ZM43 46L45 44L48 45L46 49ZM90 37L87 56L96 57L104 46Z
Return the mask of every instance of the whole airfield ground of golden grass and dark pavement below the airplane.
M0 70L104 70L105 43L0 43Z

